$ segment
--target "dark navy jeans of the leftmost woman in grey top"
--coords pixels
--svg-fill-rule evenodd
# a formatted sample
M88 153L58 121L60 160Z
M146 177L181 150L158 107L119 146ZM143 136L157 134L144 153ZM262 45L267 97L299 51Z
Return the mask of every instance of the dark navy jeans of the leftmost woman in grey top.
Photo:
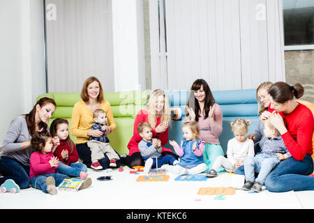
M29 187L29 166L25 166L11 157L2 156L0 158L0 174L4 176L0 178L0 185L4 181L12 179L20 189Z

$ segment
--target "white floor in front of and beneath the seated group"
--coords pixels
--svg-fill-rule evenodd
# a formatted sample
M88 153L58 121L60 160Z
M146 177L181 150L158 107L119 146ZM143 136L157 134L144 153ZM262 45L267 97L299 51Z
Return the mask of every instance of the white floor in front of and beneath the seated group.
M17 194L0 194L0 209L3 208L105 208L105 209L164 209L164 208L314 208L314 191L272 193L262 190L248 193L236 190L224 200L215 200L216 195L197 195L200 187L228 187L231 175L227 172L206 181L176 181L170 174L167 182L137 182L144 174L130 174L128 167L119 172L112 169L112 180L99 181L105 171L88 170L93 183L78 192L59 191L57 195L45 194L29 188Z

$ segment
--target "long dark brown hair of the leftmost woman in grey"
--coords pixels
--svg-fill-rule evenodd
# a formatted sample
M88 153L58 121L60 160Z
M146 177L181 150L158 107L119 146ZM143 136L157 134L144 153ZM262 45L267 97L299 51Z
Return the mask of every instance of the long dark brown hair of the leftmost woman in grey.
M36 106L39 105L40 107L43 107L49 103L54 105L54 107L57 107L56 102L52 98L44 97L44 98L40 98L40 100L36 102L36 104L33 106L33 109L31 109L31 112L29 112L29 114L24 114L25 119L27 121L27 129L29 130L29 134L31 135L31 137L33 136L35 132L35 128L36 128L36 125L35 125ZM48 125L44 123L43 121L40 121L38 123L39 129L47 130L47 127Z

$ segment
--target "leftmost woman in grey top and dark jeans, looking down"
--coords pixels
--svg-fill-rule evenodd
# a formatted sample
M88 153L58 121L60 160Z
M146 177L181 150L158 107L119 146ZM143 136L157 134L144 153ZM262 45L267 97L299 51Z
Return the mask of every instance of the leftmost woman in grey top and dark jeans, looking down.
M29 187L29 158L31 137L38 130L49 130L47 121L54 114L56 102L51 98L40 98L29 114L17 116L11 123L3 140L0 154L0 185L6 180L14 180L20 187ZM53 141L54 148L59 140Z

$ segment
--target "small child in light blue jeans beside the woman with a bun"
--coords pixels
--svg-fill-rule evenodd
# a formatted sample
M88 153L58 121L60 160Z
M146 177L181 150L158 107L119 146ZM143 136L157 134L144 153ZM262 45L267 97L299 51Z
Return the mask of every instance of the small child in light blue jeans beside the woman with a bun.
M267 119L264 123L265 137L269 138L265 141L262 153L258 153L255 157L246 157L244 160L244 172L246 175L246 183L242 187L243 190L253 190L260 192L267 175L276 165L291 157L289 151L283 143L280 132ZM255 172L259 173L255 179Z

